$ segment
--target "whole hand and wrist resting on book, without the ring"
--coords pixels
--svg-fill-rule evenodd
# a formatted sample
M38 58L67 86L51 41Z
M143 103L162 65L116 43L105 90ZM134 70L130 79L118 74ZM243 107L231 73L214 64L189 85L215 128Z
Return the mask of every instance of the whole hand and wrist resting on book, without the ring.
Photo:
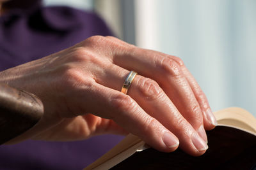
M120 92L129 71L138 75ZM42 99L44 117L10 143L70 141L131 132L148 145L191 155L207 149L216 120L204 92L178 57L93 36L75 46L0 73L0 81Z

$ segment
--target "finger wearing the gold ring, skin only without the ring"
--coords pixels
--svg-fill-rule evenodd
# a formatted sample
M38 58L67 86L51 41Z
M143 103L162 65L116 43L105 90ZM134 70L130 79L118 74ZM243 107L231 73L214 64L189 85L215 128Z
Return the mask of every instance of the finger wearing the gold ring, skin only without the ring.
M97 83L120 91L125 77L129 74L126 69L115 64L105 65L104 71L97 70L95 78ZM137 75L128 90L136 103L149 115L156 118L167 129L180 139L180 147L191 155L203 153L207 145L191 124L182 117L175 105L156 81Z

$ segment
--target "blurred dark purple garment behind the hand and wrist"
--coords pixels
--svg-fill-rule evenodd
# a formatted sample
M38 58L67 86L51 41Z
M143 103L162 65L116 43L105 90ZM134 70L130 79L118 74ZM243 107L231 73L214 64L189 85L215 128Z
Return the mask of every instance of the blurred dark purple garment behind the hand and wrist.
M58 52L90 36L111 34L92 12L46 8L39 3L29 9L15 8L0 17L0 71ZM85 141L29 140L3 145L0 169L82 169L122 138L104 135Z

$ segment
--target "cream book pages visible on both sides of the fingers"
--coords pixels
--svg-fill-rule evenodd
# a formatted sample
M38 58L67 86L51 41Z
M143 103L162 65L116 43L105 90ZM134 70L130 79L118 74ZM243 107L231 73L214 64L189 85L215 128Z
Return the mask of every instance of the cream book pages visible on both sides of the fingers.
M214 115L216 116L219 125L236 127L237 129L256 134L256 118L246 110L241 108L227 108L225 110L216 111ZM108 169L107 167L118 164L122 160L131 156L138 149L145 148L145 145L145 142L141 141L140 138L129 134L120 143L118 143L118 145L93 162L93 164L90 164L90 166L86 167L84 170L98 168Z

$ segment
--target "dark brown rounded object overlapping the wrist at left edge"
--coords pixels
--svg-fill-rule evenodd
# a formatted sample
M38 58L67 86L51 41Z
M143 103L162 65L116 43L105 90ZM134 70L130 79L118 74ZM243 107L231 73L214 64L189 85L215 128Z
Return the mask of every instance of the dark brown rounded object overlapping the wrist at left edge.
M0 145L33 127L43 114L38 97L0 83Z

